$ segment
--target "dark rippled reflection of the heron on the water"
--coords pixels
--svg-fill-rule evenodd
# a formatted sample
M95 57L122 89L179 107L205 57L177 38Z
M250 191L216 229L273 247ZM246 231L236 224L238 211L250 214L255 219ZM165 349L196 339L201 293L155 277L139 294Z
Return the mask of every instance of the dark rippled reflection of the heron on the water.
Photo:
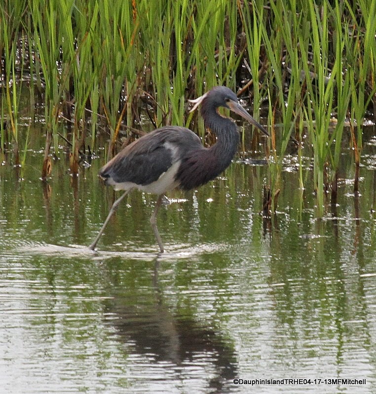
M116 316L111 320L116 337L128 345L130 354L151 358L153 364L184 381L187 387L191 371L200 370L200 379L207 381L210 393L229 393L237 377L232 340L210 323L188 316L190 309L185 314L172 312L163 300L157 282L158 263L155 264L152 295L146 294L145 288L139 291L135 288L131 296L115 296L107 301L108 312Z

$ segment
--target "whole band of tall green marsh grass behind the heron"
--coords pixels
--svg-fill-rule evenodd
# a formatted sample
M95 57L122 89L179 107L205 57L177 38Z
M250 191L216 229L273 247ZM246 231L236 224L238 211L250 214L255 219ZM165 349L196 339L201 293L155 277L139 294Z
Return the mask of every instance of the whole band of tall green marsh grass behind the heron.
M301 155L304 140L322 216L325 190L336 201L346 120L357 192L364 119L376 107L375 33L368 0L2 0L1 161L12 151L13 164L25 163L29 129L20 138L19 124L33 123L40 103L46 179L61 145L76 174L101 136L110 157L120 134L137 137L146 119L190 126L186 100L224 84L267 118L270 206L290 141ZM204 136L200 120L194 128Z

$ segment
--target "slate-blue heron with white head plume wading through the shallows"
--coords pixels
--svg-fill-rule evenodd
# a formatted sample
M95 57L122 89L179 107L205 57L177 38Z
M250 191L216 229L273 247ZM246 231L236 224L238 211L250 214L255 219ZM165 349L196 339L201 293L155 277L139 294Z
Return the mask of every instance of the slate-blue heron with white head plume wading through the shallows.
M219 107L229 108L269 135L239 104L235 93L224 86L217 86L198 99L189 101L194 103L191 111L201 104L204 125L216 134L216 143L205 148L193 131L179 126L166 126L151 131L121 150L101 168L99 175L106 185L113 186L115 190L125 190L125 193L113 203L90 249L94 250L120 201L131 190L139 189L158 195L150 224L160 252L163 253L163 243L156 224L163 195L175 188L190 190L211 181L225 170L237 151L239 133L236 125L231 118L219 114Z

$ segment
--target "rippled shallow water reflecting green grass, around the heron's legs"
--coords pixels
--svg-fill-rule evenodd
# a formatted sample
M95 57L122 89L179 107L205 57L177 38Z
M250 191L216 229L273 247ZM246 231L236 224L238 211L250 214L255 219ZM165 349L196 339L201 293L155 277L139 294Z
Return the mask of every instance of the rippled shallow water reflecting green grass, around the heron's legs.
M155 198L138 192L119 207L98 252L86 248L114 199L97 179L101 159L75 180L62 158L47 184L38 180L38 152L22 181L17 168L1 166L3 392L375 393L369 140L360 196L344 157L338 206L328 204L322 220L309 163L301 198L294 155L271 221L259 214L268 169L250 161L235 160L196 192L169 195L159 256L149 224Z

